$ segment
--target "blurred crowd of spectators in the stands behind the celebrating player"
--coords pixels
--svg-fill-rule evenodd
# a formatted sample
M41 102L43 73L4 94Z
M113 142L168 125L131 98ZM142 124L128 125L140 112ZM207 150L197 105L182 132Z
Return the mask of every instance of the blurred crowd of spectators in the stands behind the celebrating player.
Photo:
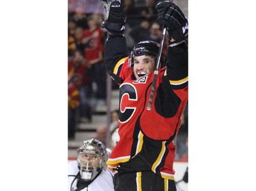
M162 27L156 22L158 0L125 0L127 48L143 40L160 42ZM88 3L88 4L86 4ZM105 10L100 0L68 0L68 139L74 139L80 122L90 123L97 104L106 105L106 70L104 41L107 33L100 27ZM165 41L166 55L168 42ZM115 84L113 88L117 88ZM187 109L180 138L177 137L177 159L187 160ZM112 129L113 130L113 129ZM180 140L180 142L179 142ZM104 141L103 141L104 142Z

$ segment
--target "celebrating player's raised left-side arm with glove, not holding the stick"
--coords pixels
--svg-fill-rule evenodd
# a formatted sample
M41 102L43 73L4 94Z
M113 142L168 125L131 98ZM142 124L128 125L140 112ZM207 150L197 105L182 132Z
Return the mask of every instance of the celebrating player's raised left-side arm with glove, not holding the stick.
M123 33L126 26L126 10L124 0L101 0L106 10L106 19L101 27L105 28L109 37L104 44L104 60L106 70L114 78L115 82L122 82L119 73L124 63L124 58L128 56L126 38Z

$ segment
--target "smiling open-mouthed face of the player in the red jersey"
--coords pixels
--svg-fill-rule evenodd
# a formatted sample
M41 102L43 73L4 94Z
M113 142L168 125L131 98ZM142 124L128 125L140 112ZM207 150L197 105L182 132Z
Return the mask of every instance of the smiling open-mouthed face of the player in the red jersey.
M136 79L143 77L154 70L154 57L152 56L135 56L133 71Z

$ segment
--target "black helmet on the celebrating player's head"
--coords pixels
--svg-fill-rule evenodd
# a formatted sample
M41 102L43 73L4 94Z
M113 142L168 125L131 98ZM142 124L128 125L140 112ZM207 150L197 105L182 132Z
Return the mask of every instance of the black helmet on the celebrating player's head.
M141 41L134 46L129 55L128 66L133 67L135 56L152 56L156 67L160 44L155 41ZM160 57L161 67L165 67L165 55L162 53Z

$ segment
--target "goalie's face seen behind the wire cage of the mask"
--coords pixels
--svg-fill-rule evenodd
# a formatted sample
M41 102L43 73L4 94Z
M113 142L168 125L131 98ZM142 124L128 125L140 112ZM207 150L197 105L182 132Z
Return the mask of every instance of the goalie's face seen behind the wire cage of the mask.
M100 164L100 156L97 154L81 153L79 159L83 168L94 169Z

